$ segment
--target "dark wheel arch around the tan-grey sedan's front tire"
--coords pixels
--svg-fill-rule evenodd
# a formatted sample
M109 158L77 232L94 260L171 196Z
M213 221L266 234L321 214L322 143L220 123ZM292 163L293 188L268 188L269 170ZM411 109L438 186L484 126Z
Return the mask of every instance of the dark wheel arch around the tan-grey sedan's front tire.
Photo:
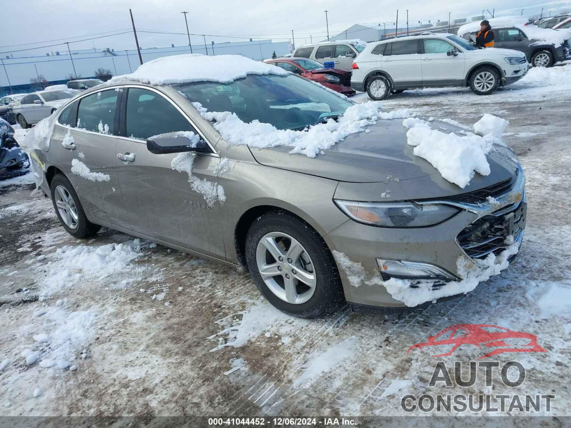
M288 213L289 215L295 216L307 223L311 228L315 229L322 238L324 235L327 235L327 232L319 227L319 224L311 216L308 216L307 213L300 211L299 208L284 201L272 200L255 204L242 213L234 227L234 249L236 252L236 261L238 261L241 266L247 267L246 239L248 231L250 231L250 226L259 216L270 211L282 211L284 213ZM327 245L327 247L329 247L329 245ZM329 251L331 251L331 248L329 248Z

